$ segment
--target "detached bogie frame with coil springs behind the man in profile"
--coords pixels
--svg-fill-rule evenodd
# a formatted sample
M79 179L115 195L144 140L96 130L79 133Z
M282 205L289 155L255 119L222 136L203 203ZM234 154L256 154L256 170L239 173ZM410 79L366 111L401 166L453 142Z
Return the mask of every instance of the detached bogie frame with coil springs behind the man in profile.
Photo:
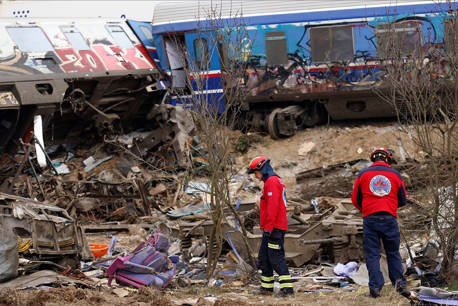
M242 215L246 213L250 211L241 212ZM206 244L212 227L211 221L179 225L183 258L190 259L197 252L205 254L203 249L206 249L206 252L213 252L215 247ZM288 227L284 247L285 258L290 266L299 267L304 263L313 263L322 255L328 256L332 262L365 260L363 216L349 200L343 200L317 214L293 213L288 216ZM225 224L224 249L230 251L230 243L232 243L234 246L232 250L235 250L242 259L248 260L241 230L234 231L235 229L235 222ZM254 256L257 257L262 240L259 226L254 227L246 239Z

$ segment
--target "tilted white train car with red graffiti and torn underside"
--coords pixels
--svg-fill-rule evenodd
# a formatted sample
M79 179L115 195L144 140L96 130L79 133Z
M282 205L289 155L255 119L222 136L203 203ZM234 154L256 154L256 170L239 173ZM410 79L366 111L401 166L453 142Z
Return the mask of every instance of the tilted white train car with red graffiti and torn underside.
M161 78L125 19L2 19L0 152L35 116L48 145L147 128Z

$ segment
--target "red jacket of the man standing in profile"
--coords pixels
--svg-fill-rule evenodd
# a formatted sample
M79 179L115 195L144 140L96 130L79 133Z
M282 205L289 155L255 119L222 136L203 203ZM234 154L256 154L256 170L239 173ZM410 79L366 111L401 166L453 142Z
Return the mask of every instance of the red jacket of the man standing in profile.
M276 175L264 181L261 201L259 203L261 214L261 230L265 229L272 232L274 228L278 230L288 230L286 220L286 188L283 181Z

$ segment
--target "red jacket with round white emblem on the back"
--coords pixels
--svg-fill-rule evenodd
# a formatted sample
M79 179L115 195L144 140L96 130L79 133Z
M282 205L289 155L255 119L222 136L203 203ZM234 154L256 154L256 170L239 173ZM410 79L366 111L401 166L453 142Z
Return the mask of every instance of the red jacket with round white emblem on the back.
M401 174L385 162L373 163L358 173L351 202L363 212L363 217L374 212L389 212L397 218L398 207L406 205Z

